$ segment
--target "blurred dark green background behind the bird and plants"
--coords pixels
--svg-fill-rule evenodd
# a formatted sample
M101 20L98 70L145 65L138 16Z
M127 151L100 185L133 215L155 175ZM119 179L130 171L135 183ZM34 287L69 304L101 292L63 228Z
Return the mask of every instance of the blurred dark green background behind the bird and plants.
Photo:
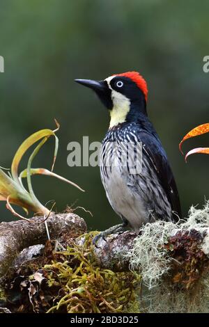
M148 82L148 114L167 151L176 177L184 215L208 197L209 156L199 154L185 164L181 138L208 122L209 2L166 0L1 0L0 166L9 167L24 139L60 124L55 172L77 182L86 192L49 177L33 177L43 203L55 199L80 209L88 228L102 230L119 223L111 209L99 168L67 165L70 141L101 141L108 127L107 110L87 88L73 79L104 79L138 70ZM189 140L183 150L208 145L208 136ZM53 143L45 145L33 166L49 168ZM24 165L22 166L24 168ZM13 220L1 202L1 221Z

